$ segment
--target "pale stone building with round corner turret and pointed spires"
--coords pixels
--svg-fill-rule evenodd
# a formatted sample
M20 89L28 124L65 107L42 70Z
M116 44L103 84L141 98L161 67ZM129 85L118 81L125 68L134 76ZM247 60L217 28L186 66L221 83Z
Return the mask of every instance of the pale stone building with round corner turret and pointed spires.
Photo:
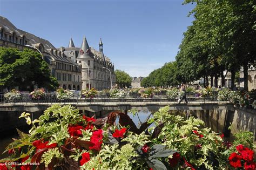
M110 89L111 80L112 85L116 84L114 65L103 53L102 39L99 42L99 51L89 47L85 36L80 48L75 47L71 38L68 47L60 47L58 50L64 52L68 58L77 62L82 67L82 89L89 88L89 80L90 87L97 90Z

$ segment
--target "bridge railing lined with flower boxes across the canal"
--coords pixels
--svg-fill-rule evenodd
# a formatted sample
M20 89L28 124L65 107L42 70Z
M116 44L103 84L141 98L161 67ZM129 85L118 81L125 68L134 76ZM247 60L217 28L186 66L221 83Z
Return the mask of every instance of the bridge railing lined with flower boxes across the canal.
M217 100L217 95L213 95L211 97L195 97L194 93L187 93L186 99L188 103L209 103L209 102L223 102ZM13 100L7 100L4 97L4 94L0 94L0 104L43 104L43 103L103 103L103 104L121 104L121 103L178 103L179 97L167 97L165 94L157 94L152 98L142 98L139 96L127 96L122 98L110 98L108 94L103 94L100 96L96 96L95 98L80 98L78 94L74 95L73 97L70 97L68 99L57 99L56 93L45 93L45 96L41 99L32 99L29 95L29 93L22 93L21 99L13 99ZM181 103L184 103L185 100L181 101Z

